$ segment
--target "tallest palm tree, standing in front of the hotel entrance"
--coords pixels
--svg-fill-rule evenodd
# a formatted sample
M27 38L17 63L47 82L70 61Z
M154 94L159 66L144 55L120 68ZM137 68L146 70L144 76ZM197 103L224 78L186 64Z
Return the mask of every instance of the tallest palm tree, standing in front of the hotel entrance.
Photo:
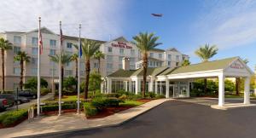
M147 81L147 69L148 69L148 51L154 49L154 47L160 45L156 41L159 37L154 37L154 33L140 32L137 36L132 37L133 42L143 55L143 98L146 93L146 81Z

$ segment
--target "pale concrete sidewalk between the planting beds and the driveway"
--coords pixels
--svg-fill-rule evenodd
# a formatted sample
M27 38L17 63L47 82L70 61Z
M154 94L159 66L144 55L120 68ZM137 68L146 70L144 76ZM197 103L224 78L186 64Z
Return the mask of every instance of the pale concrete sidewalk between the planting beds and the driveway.
M50 116L36 118L31 123L25 121L15 128L0 129L0 134L1 137L15 137L115 126L123 124L125 121L128 121L131 118L135 118L143 112L147 112L154 106L159 106L163 102L170 100L172 99L149 101L141 106L136 106L123 112L115 113L106 118L86 119L84 118L84 114L76 115L74 113L65 114L61 117Z

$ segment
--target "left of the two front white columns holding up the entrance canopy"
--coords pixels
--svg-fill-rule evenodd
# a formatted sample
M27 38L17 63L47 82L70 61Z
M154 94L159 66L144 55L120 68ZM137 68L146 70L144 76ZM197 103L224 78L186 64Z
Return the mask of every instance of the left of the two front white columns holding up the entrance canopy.
M218 76L218 106L224 106L224 80L223 74Z

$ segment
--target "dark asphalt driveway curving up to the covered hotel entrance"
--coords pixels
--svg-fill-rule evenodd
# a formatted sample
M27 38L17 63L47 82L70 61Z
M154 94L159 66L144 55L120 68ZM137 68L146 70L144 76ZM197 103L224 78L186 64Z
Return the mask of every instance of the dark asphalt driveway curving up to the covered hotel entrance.
M166 101L118 127L41 137L253 138L256 137L255 115L256 107L222 111L191 102Z

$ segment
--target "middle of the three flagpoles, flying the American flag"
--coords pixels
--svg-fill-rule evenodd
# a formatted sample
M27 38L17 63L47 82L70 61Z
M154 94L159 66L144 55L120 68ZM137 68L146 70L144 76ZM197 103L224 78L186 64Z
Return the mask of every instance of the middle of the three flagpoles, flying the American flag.
M61 21L60 21L60 56L59 56L59 115L61 116L61 56L62 56L62 43L61 43Z

